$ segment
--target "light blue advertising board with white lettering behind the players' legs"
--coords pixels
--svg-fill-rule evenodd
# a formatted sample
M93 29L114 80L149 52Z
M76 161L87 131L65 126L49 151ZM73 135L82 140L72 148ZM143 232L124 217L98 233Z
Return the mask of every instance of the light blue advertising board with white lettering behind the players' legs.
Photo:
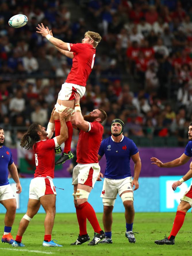
M191 181L184 182L176 191L173 191L171 185L174 181L180 179L181 176L161 176L161 177L141 177L139 179L139 189L134 192L134 207L136 212L174 212L180 202L180 198L191 185ZM16 194L17 213L25 213L28 202L28 192L30 178L21 178L22 193ZM13 179L9 180L12 189L16 192L16 184ZM74 213L73 204L73 186L72 178L55 178L54 185L56 188L56 211L57 213ZM103 212L102 198L102 182L96 182L94 189L89 195L89 202L96 212ZM117 196L114 212L124 212L122 200ZM5 213L5 208L0 205L0 213ZM41 207L39 213L44 213Z

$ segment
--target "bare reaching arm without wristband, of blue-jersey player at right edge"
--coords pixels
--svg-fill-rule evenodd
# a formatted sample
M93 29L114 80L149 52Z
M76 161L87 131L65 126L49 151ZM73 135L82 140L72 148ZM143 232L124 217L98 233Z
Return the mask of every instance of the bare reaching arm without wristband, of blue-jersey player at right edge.
M158 167L164 167L164 168L169 168L169 167L176 167L180 165L184 165L189 161L191 157L186 156L184 153L181 155L179 158L176 158L175 160L167 163L162 163L158 158L156 157L151 157L151 164L157 165Z

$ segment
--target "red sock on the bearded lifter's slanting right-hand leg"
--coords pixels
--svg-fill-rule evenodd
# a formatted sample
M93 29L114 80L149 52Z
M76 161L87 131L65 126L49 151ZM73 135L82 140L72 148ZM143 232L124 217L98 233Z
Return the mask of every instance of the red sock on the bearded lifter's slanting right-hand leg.
M99 226L99 222L97 220L97 217L96 217L93 207L88 202L85 202L80 205L80 207L82 207L82 206L83 206L82 212L83 212L83 214L85 214L85 216L91 223L91 226L93 227L94 232L100 234L101 227Z

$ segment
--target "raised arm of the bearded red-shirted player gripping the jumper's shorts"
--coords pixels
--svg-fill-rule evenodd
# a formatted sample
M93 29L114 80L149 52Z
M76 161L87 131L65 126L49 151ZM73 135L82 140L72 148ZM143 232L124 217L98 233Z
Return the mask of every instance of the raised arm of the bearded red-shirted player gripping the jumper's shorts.
M80 101L80 95L78 93L75 93L74 94L74 97L75 97L75 123L76 123L76 126L83 130L83 131L88 131L89 130L89 122L85 121L82 114L81 114L81 110L80 110L80 104L79 104L79 101ZM79 108L79 109L76 109Z

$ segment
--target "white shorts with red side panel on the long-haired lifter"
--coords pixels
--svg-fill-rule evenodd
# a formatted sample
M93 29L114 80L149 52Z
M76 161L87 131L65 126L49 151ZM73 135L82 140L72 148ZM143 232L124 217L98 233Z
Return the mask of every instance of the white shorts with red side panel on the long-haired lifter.
M29 186L29 198L37 199L41 196L57 194L52 178L36 177L31 180Z

